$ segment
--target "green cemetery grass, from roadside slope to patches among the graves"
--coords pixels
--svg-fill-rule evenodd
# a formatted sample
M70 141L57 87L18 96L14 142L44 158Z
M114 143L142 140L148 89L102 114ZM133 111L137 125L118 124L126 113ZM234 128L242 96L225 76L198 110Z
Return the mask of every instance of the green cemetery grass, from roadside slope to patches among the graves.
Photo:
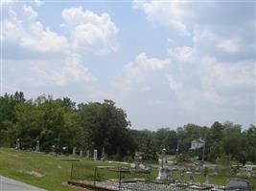
M21 180L29 184L45 188L49 191L75 191L81 190L66 185L66 181L70 179L72 160L61 160L67 157L54 157L43 153L33 153L26 151L16 151L9 148L0 148L0 175ZM78 158L79 159L79 158ZM79 162L74 162L77 167L73 177L78 177L85 180L93 180L95 166L115 166L121 167L124 165L116 163L107 163L103 161L93 161L82 159ZM73 167L74 167L73 166ZM157 177L158 165L153 165L151 175L138 174L123 174L123 179L144 178L153 180ZM179 172L173 173L175 180L179 179ZM117 172L109 172L107 170L98 169L97 179L118 179ZM185 175L185 180L189 180L189 175ZM194 180L203 182L204 178L201 175L195 175ZM225 185L228 178L224 176L210 176L210 183ZM256 180L250 179L250 183L256 188Z

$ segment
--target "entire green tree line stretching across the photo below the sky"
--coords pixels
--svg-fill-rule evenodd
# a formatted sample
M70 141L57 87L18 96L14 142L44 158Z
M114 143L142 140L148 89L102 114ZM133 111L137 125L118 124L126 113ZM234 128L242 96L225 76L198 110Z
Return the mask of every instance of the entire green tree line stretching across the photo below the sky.
M71 153L78 150L101 149L109 159L131 159L140 151L145 160L157 160L163 147L170 155L198 156L191 152L191 141L202 138L205 159L216 161L222 157L256 162L256 127L246 130L232 122L214 122L210 127L186 124L183 127L161 128L157 131L131 129L126 112L114 101L75 103L69 97L54 99L38 96L26 99L22 92L0 96L0 146L14 147L17 138L23 149L34 149L36 140L40 150ZM54 147L53 147L54 146ZM187 159L187 158L184 158Z

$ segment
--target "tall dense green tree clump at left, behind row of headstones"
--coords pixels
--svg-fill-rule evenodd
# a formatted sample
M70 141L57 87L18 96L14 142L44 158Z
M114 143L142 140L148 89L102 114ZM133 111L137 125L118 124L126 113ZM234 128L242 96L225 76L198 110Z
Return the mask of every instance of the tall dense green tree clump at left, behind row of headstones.
M21 148L72 152L73 147L85 151L103 147L111 158L123 159L134 153L135 143L128 132L127 114L112 100L89 102L76 106L68 97L53 99L38 96L26 100L23 93L0 96L0 146L14 147L17 138Z

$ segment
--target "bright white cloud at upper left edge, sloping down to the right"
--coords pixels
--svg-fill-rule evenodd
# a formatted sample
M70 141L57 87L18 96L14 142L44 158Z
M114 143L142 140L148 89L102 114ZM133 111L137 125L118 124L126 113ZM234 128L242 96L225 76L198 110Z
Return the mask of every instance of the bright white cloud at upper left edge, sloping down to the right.
M25 19L18 19L15 11L9 11L9 17L4 19L4 45L13 49L23 48L32 53L63 53L67 48L67 39L52 32L36 20L37 13L30 6L23 6ZM24 55L25 56L25 55Z

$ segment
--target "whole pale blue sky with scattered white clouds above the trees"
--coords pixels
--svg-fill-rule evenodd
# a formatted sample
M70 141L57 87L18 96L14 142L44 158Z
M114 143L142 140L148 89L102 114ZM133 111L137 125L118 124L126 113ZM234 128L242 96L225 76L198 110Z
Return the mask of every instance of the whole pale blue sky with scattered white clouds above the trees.
M255 124L254 1L0 7L1 96L112 99L133 129Z

